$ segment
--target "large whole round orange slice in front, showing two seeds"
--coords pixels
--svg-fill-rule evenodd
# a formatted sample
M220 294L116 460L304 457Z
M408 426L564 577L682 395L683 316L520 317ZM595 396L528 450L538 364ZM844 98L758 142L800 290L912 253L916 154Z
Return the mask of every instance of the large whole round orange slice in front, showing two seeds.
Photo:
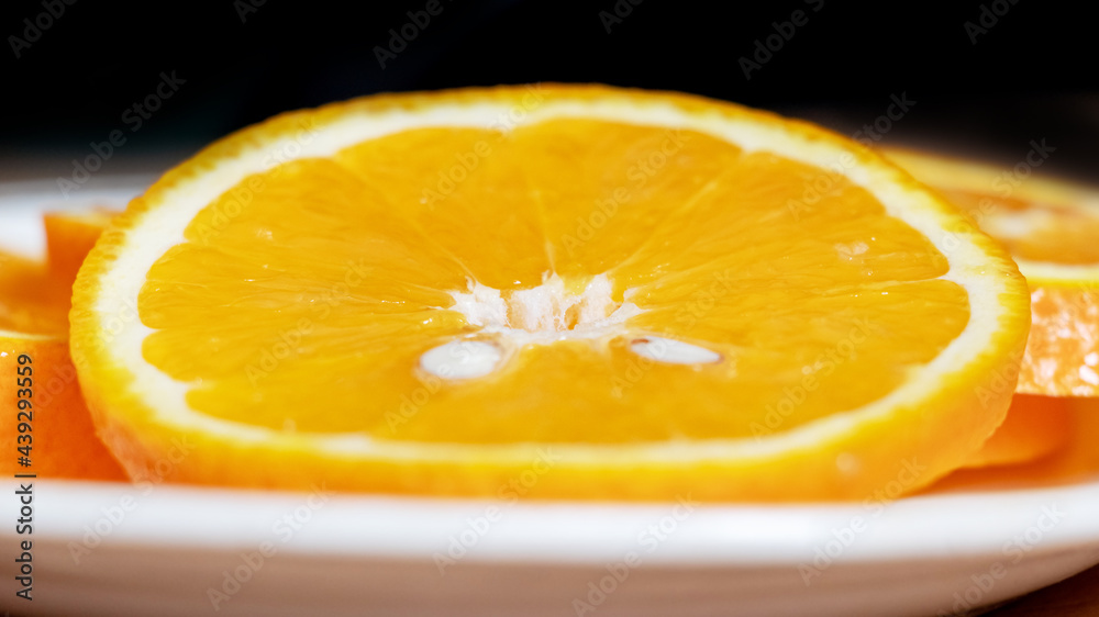
M1030 311L1002 248L853 142L541 86L210 146L102 236L71 321L137 479L795 501L963 464Z

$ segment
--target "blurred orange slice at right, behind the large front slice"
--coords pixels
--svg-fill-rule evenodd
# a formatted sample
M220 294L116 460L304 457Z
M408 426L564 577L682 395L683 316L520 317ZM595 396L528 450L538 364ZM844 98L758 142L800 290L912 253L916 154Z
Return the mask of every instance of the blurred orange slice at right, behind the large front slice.
M1019 392L1099 396L1099 191L1040 177L1034 156L1006 169L886 154L1003 243L1026 277L1033 324Z

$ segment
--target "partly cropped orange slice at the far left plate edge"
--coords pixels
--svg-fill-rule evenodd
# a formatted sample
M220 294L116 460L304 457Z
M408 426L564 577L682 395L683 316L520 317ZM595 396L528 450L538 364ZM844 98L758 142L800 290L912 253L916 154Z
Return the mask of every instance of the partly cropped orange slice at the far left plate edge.
M124 480L96 438L69 359L69 293L44 265L0 254L0 401L9 418L0 472Z

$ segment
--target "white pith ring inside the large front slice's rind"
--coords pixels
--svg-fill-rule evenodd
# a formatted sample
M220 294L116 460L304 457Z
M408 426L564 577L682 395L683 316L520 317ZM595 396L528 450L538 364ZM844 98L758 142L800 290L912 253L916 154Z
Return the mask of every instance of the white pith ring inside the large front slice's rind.
M185 242L184 228L198 212L233 188L242 178L269 168L273 153L287 153L291 149L299 153L295 157L284 156L281 160L325 157L352 144L408 128L432 125L498 127L499 117L510 110L511 105L506 102L445 104L430 109L395 106L385 113L345 116L323 126L310 136L308 143L299 143L300 148L289 147L295 143L291 135L279 141L268 139L267 143L242 152L234 158L221 159L202 175L201 181L184 180L166 189L158 200L159 203L144 213L126 232L127 237L140 237L141 242L129 242L121 248L113 267L103 276L93 307L101 329L108 332L107 325L116 316L133 313L146 272L165 251ZM747 116L740 119L715 113L689 113L670 103L651 101L637 103L613 97L599 101L550 100L530 111L525 122L534 123L560 116L660 127L677 126L730 141L747 152L765 149L820 168L834 167L844 154L844 150L829 141L808 138ZM822 439L850 431L856 423L887 414L901 403L924 400L939 391L943 375L976 361L998 333L999 317L1007 308L997 299L1007 291L1008 283L1002 277L991 276L992 272L986 276L980 268L970 266L987 261L984 250L965 239L957 244L957 238L943 229L944 223L950 221L948 215L939 209L930 195L897 183L896 170L887 166L865 165L856 159L854 165L845 169L845 173L851 181L874 194L890 215L903 220L921 232L946 256L950 271L942 278L963 287L969 296L970 321L967 328L939 357L922 369L912 371L902 385L863 407L836 413L761 440L741 438L631 446L563 446L569 461L579 463L585 460L598 460L609 463L615 460L636 462L639 459L644 459L681 462L765 457L801 447L813 447ZM477 298L477 288L475 287L469 293ZM482 296L485 293L490 292L482 290ZM607 319L614 317L621 319L619 324L628 323L632 316L629 310L618 315L628 304L624 303ZM478 318L485 319L486 328L492 327L491 319L498 316L491 310L470 308L470 311L469 315L478 315ZM597 322L592 322L591 326L596 327ZM178 429L198 429L234 440L264 441L266 446L273 448L300 448L302 441L308 440L311 447L330 452L387 459L466 460L475 456L480 460L495 458L503 461L529 461L532 446L526 445L423 444L388 441L362 434L338 436L288 434L197 413L188 407L185 399L192 384L171 379L144 359L142 343L152 332L140 321L133 319L116 335L112 335L108 352L112 356L111 363L126 367L132 372L133 379L129 388L148 410L156 414L155 420L160 424Z

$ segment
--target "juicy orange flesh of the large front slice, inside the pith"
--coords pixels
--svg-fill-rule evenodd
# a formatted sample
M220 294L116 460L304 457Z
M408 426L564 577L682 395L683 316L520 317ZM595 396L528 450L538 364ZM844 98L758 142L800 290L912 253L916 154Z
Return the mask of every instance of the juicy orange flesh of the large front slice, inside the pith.
M968 321L965 291L936 280L943 256L865 190L829 176L804 204L822 175L602 121L390 135L207 206L148 272L144 356L197 384L193 408L278 429L468 444L788 430L890 392ZM473 279L507 298L551 272L575 291L607 274L615 303L644 311L630 333L723 361L643 361L626 337L531 345L475 380L418 370L479 329L451 292Z

